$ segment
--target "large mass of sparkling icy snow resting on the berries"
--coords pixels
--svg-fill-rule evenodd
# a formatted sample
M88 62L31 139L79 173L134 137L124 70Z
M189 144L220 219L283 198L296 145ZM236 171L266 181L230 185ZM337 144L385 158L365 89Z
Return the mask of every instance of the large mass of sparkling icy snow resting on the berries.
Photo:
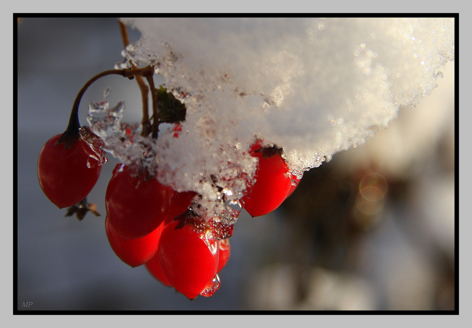
M175 190L202 194L202 213L222 211L216 185L227 200L242 197L257 165L247 153L256 139L283 147L300 177L368 142L399 107L428 95L454 60L454 18L121 21L142 33L126 59L154 66L187 108L178 138L161 127L157 143L147 142L156 156L146 165ZM102 136L111 148L123 136L113 131ZM114 155L135 161L145 149L133 144Z

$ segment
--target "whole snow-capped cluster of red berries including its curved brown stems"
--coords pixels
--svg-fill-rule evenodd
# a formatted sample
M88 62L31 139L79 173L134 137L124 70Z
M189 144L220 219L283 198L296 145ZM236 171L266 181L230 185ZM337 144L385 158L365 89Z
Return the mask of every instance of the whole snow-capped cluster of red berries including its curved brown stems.
M129 43L126 26L119 24L126 45ZM86 201L86 196L100 176L101 165L106 162L103 149L107 148L105 141L89 128L81 128L78 119L80 100L94 81L107 75L136 77L143 98L141 136L149 138L151 134L152 139L157 139L159 124L166 122L175 124L170 133L179 137L182 131L179 122L185 121L185 105L162 86L154 87L154 72L154 67L137 68L131 64L130 68L93 76L77 94L66 131L43 146L38 160L39 183L51 202L61 209L68 207L66 216L75 213L83 219L89 210L100 215L95 205ZM152 95L152 125L147 108L148 92ZM104 103L105 100L101 105ZM133 143L131 126L119 124ZM177 192L162 185L144 165L118 164L105 195L105 231L113 251L131 267L145 264L160 282L173 286L190 299L211 296L220 286L218 273L228 262L228 238L241 210L245 208L253 217L267 214L293 192L299 181L289 171L281 148L263 146L263 141L257 140L248 153L259 159L255 180L246 180L238 210L226 207L224 215L231 217L229 221L223 217L202 218L197 214L202 195L193 191ZM143 157L148 155L146 151ZM213 182L215 188L223 190L216 180ZM224 202L224 196L220 201Z

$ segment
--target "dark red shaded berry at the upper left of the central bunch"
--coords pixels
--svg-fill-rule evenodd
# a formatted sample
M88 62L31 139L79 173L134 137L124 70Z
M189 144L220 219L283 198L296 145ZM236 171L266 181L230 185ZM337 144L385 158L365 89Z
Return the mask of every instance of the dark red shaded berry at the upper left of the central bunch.
M144 237L167 217L172 194L172 188L157 179L131 177L130 169L118 164L105 195L110 224L124 239Z

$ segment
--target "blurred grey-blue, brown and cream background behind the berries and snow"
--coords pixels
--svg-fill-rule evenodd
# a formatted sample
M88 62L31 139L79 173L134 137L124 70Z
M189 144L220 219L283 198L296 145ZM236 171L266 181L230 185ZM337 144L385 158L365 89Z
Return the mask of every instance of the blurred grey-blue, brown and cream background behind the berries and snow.
M25 18L17 50L18 310L455 309L454 63L370 143L306 172L277 210L243 210L221 287L190 302L111 250L104 198L115 159L88 196L102 217L64 217L37 180L39 152L65 130L78 90L122 61L117 20ZM110 104L126 102L124 121L141 121L135 81L107 76L84 94L81 124L108 86Z

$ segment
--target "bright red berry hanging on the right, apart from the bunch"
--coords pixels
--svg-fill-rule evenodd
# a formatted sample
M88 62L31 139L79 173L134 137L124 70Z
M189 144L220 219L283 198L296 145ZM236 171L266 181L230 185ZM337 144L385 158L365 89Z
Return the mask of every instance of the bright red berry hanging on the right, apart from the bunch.
M273 149L274 147L272 147ZM269 148L270 150L270 148ZM252 217L267 214L286 199L292 186L292 174L287 163L278 153L253 151L251 156L259 158L256 170L256 182L242 198L244 208Z

